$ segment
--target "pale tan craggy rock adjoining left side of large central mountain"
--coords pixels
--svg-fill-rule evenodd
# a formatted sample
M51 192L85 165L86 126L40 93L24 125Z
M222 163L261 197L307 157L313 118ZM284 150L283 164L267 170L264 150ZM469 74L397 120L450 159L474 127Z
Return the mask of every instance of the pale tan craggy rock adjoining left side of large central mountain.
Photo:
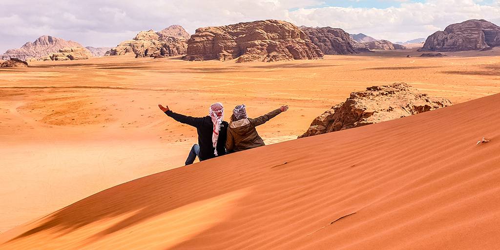
M187 43L184 39L171 36L159 36L152 29L140 31L133 39L122 41L111 48L105 55L135 54L135 57L175 56L186 53Z

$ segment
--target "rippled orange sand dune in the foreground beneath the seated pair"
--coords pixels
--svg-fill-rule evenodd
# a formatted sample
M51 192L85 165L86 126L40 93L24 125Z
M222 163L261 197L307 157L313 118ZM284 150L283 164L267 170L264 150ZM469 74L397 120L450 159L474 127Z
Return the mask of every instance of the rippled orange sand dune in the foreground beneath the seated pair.
M139 178L1 234L0 248L496 249L499 101Z

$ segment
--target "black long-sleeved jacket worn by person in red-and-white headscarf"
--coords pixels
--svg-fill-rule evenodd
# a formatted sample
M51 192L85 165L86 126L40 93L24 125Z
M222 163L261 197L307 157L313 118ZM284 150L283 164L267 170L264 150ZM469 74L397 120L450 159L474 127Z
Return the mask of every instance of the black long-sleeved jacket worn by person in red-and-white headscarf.
M213 123L210 116L205 117L191 117L179 113L174 113L172 110L167 110L166 115L172 117L174 120L196 127L198 132L198 145L199 145L199 160L205 160L215 157L214 147L212 145L212 131ZM225 154L225 141L227 136L227 121L222 121L220 124L219 137L217 139L217 154L218 156Z

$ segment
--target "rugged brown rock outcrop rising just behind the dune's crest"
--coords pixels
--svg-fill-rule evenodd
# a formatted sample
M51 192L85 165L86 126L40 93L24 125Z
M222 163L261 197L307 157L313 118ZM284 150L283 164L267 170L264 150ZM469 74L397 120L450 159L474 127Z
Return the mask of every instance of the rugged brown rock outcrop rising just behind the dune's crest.
M299 137L396 119L448 105L451 105L449 100L428 97L406 83L372 86L365 91L352 92L344 102L326 110Z

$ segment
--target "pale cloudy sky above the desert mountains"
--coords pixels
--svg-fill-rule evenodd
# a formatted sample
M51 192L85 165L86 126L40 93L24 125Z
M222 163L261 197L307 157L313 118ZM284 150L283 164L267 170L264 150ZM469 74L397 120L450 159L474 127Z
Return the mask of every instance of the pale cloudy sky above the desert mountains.
M193 33L258 19L340 27L395 42L472 18L500 24L500 0L0 0L0 51L44 34L115 46L170 24Z

